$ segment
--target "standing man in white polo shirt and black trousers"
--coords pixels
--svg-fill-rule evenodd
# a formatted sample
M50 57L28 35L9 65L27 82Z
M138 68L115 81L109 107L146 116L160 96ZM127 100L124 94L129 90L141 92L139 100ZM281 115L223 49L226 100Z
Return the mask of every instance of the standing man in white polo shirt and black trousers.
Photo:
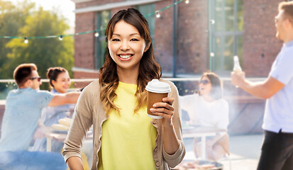
M293 169L293 1L281 2L275 16L276 37L284 42L265 81L231 72L231 81L244 91L265 98L265 133L258 170Z

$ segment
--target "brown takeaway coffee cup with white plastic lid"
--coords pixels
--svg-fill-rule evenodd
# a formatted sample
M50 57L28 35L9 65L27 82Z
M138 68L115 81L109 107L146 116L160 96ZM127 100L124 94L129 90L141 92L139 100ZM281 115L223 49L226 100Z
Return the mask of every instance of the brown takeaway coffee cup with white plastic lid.
M147 91L148 117L161 119L162 117L160 115L153 115L150 108L153 108L154 103L162 102L162 98L168 96L171 91L169 84L159 81L158 79L153 79L148 82L145 90Z

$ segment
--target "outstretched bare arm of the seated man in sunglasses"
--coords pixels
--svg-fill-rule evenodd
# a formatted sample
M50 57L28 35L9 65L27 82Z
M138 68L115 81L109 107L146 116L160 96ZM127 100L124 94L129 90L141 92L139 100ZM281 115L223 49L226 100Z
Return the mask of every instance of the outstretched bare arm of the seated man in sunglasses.
M77 103L81 92L74 91L66 94L55 94L48 106L60 106L64 104Z

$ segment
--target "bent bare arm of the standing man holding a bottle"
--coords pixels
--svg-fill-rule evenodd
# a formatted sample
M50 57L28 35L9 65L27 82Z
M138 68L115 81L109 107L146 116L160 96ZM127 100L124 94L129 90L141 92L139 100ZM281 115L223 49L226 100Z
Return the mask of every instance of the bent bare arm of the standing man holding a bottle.
M231 72L231 81L234 86L239 86L244 91L259 98L270 98L280 91L285 84L273 77L267 77L265 81L252 82L245 79L245 73Z

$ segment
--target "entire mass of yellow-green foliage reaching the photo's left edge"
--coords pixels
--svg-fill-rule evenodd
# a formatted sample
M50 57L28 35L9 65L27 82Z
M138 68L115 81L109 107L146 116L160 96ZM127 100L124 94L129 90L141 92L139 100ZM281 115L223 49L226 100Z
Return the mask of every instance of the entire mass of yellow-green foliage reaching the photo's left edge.
M35 4L23 1L13 6L0 0L0 35L40 37L64 35L69 29L65 18L55 11L35 9ZM3 10L5 8L6 10ZM23 39L0 38L0 79L13 79L13 70L22 63L35 63L38 72L45 78L48 67L64 67L70 74L74 64L73 38Z

